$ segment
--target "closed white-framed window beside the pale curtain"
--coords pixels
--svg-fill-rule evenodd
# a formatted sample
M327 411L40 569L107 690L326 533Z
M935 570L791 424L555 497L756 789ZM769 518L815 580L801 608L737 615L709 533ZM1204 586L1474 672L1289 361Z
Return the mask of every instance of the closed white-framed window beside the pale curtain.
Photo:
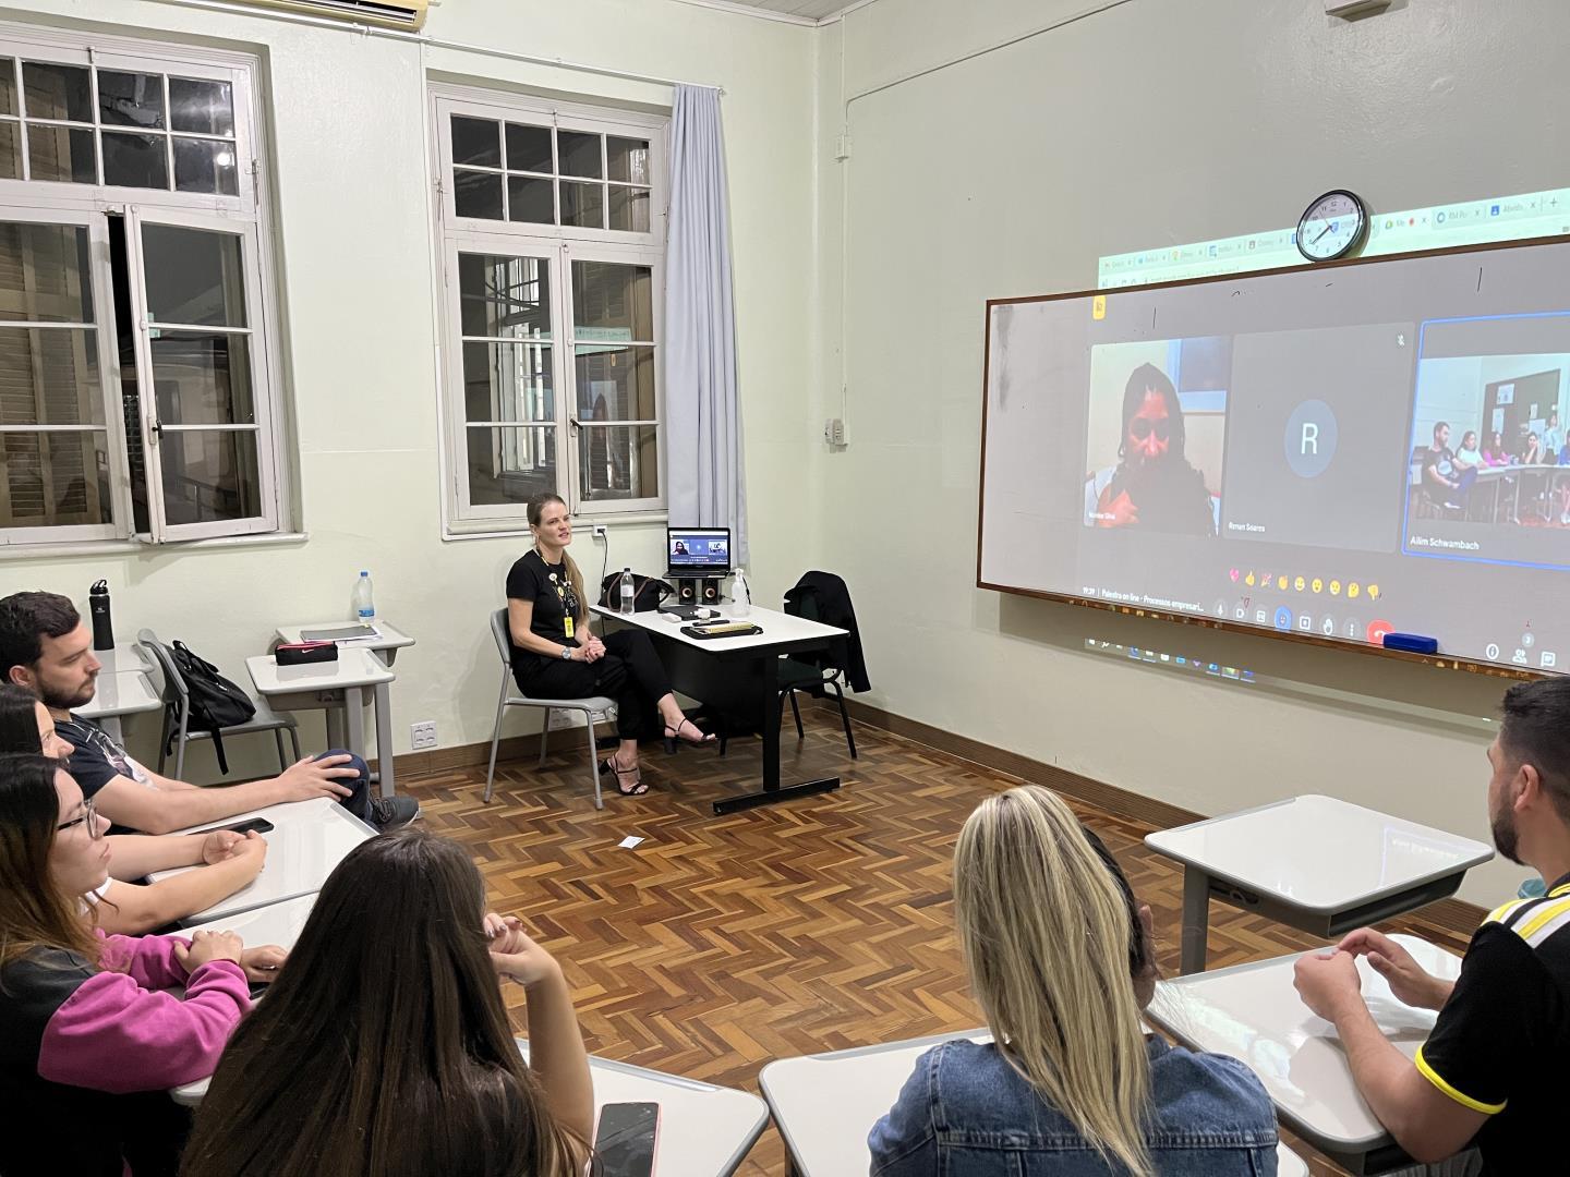
M432 89L449 534L664 510L667 119Z

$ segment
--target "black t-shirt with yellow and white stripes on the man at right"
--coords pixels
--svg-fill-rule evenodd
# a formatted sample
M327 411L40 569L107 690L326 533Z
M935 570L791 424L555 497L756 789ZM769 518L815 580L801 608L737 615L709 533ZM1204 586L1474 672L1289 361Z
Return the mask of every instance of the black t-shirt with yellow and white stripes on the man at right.
M1418 1070L1473 1111L1485 1172L1546 1172L1543 1149L1564 1103L1570 1056L1570 876L1518 899L1473 935L1451 1000L1418 1051Z

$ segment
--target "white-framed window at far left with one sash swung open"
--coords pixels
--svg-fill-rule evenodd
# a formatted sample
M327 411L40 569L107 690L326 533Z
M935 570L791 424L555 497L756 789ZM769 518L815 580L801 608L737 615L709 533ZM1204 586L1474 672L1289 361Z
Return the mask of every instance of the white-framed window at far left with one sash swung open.
M0 27L0 546L278 530L254 66Z

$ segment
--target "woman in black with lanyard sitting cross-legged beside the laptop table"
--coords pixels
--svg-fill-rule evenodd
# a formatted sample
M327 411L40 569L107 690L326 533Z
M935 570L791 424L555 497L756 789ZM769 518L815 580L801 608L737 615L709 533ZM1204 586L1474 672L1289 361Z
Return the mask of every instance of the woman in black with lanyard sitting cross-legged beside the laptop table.
M617 703L622 745L604 761L625 797L648 793L637 766L637 741L658 719L666 739L708 744L681 714L655 643L641 629L619 629L603 640L589 629L582 574L567 545L573 523L556 494L529 499L534 548L507 573L507 628L512 634L512 676L534 698L609 695Z

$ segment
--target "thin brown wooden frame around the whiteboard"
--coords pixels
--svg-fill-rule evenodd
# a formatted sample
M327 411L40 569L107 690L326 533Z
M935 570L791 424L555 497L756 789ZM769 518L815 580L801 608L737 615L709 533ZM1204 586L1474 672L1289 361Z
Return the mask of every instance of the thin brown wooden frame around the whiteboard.
M1090 596L1079 596L1075 593L1053 593L1042 588L1024 588L1020 585L1011 584L992 584L981 576L981 546L986 535L986 443L988 443L988 388L992 383L992 308L997 306L1020 306L1027 303L1060 303L1072 298L1090 298L1124 295L1129 292L1148 292L1148 290L1173 290L1182 286L1209 286L1212 282L1236 282L1239 278L1289 278L1300 273L1324 273L1327 270L1339 270L1342 267L1353 265L1383 265L1386 262L1410 262L1419 257L1448 257L1454 254L1470 254L1470 253L1504 253L1507 250L1531 250L1542 245L1570 245L1570 234L1553 235L1553 237L1524 237L1518 242L1477 242L1476 245L1457 245L1449 250L1413 250L1410 253L1393 253L1380 254L1378 257L1341 257L1333 262L1305 262L1303 265L1289 265L1276 270L1253 270L1242 273L1225 273L1210 275L1206 278L1181 278L1171 282L1148 282L1145 286L1124 286L1116 290L1071 290L1066 293L1055 295L1024 295L1019 298L988 298L986 300L986 315L981 323L984 337L984 359L981 364L981 485L977 488L977 588L988 588L997 593L1011 593L1014 596L1030 596L1038 601L1057 601L1060 604L1074 604L1086 609L1101 609L1110 614L1126 614L1129 617L1152 617L1157 621L1176 621L1179 625L1193 625L1203 629L1225 629L1234 634L1250 634L1253 637L1267 637L1278 642L1297 642L1300 645L1313 645L1325 650L1339 650L1344 653L1358 654L1374 654L1378 658L1391 658L1399 662L1415 662L1419 665L1430 665L1440 670L1466 670L1474 675L1488 675L1493 678L1510 678L1510 680L1537 680L1551 678L1553 675L1545 675L1539 670L1523 670L1513 665L1501 665L1498 662L1484 662L1473 658L1455 658L1451 654L1415 654L1407 650L1386 650L1385 647L1369 645L1367 642L1347 642L1342 639L1322 637L1319 634L1302 634L1297 631L1281 631L1267 629L1258 625L1247 625L1237 621L1228 621L1221 618L1203 617L1196 614L1174 614L1165 609L1146 609L1145 606L1118 604L1116 601L1097 601Z

